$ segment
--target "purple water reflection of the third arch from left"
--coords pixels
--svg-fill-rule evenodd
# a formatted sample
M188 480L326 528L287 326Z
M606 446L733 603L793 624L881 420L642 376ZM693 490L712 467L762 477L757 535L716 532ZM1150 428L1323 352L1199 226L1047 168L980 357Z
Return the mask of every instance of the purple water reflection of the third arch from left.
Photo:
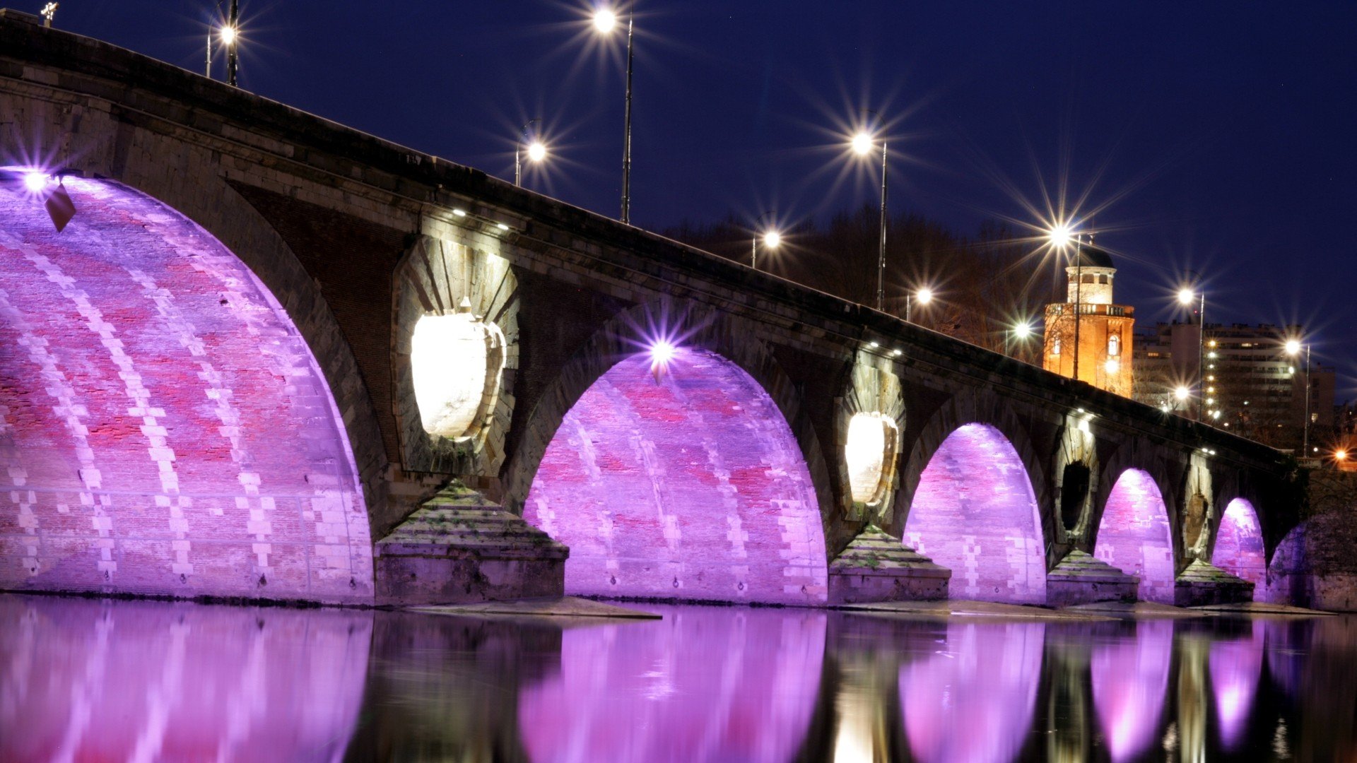
M1012 760L1031 728L1042 623L947 626L938 652L900 669L909 749L920 760Z

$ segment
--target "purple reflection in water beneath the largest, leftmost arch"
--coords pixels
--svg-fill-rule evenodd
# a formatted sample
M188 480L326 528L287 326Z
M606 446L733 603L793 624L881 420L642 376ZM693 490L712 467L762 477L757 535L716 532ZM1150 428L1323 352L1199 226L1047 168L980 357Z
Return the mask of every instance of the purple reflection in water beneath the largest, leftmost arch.
M0 596L0 760L338 760L372 615Z

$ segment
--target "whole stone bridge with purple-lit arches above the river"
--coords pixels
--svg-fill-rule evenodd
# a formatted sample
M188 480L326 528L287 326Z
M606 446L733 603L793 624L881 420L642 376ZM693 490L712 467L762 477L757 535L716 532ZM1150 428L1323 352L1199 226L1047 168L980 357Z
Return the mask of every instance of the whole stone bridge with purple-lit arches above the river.
M1296 524L1255 443L12 11L0 138L7 589L1185 603Z

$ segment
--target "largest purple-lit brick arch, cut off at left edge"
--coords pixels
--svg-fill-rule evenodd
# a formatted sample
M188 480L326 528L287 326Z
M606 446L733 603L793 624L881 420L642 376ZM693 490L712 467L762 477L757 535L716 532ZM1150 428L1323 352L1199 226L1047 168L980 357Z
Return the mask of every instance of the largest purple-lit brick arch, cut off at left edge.
M0 190L3 585L370 600L346 428L289 312L164 204L65 186L61 234Z

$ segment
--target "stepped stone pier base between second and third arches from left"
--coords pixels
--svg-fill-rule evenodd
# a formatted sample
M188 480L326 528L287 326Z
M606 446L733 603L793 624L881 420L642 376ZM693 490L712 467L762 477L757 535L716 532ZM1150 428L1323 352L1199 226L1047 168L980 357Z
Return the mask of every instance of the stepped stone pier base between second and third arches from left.
M951 570L868 525L829 565L829 604L947 597Z

